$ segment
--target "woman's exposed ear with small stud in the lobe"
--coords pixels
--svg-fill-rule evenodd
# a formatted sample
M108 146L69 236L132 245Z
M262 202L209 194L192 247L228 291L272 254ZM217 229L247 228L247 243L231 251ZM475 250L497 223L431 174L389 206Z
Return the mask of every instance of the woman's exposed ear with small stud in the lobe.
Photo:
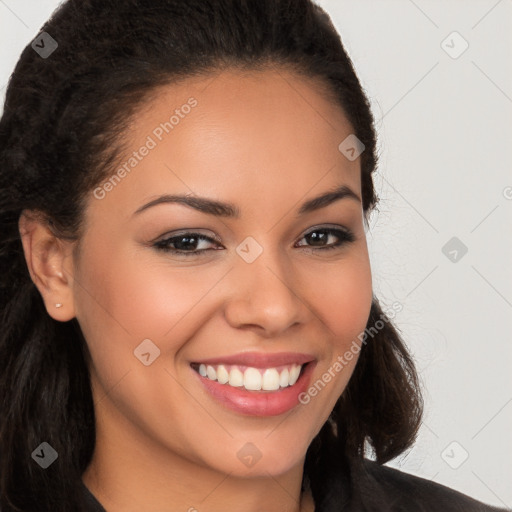
M60 322L71 320L75 317L73 243L58 238L49 228L47 218L32 210L21 212L18 228L30 277L48 314Z

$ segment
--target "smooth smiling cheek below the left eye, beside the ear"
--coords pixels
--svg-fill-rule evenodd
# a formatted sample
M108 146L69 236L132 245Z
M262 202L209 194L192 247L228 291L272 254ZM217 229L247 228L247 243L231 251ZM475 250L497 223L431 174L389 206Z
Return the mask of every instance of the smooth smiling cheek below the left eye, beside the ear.
M87 290L78 300L84 316L94 318L95 330L109 330L132 349L137 340L176 338L225 272L180 265L183 260L146 248L100 247L84 257L80 280Z

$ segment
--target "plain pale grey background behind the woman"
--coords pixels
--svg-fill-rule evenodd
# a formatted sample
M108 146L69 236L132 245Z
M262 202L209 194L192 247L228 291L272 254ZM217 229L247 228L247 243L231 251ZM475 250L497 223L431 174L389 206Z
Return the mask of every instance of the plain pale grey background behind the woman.
M425 390L418 441L389 465L512 507L512 0L318 3L372 103L374 290L402 304ZM0 0L2 103L58 4Z

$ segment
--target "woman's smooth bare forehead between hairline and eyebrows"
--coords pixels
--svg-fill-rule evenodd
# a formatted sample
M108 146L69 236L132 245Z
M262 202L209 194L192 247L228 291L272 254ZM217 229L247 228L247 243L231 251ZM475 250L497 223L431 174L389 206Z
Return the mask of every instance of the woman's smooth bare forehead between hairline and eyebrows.
M239 204L251 192L261 208L338 184L360 195L359 160L338 149L352 127L325 90L281 68L223 70L159 87L132 118L117 167L126 172L106 199L138 206L181 192ZM144 147L144 156L134 155Z

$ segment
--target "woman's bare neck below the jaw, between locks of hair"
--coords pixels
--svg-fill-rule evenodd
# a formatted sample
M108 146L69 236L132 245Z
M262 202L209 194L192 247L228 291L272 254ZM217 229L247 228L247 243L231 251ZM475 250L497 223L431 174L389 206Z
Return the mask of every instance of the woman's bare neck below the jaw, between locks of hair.
M237 477L170 451L133 426L113 429L115 422L101 418L83 482L108 512L314 511L311 495L301 493L303 460L278 476Z

